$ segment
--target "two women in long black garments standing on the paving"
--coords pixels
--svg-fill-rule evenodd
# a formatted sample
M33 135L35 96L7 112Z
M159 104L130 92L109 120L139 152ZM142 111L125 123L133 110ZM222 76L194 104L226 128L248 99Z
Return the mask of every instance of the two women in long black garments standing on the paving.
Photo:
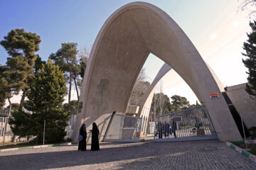
M91 144L91 150L100 150L99 146L99 135L100 131L97 128L96 123L92 123L92 144ZM86 127L85 124L83 124L80 128L79 134L82 136L82 140L80 140L79 145L78 145L78 150L85 151L86 150L86 138L87 138L87 132L86 132Z

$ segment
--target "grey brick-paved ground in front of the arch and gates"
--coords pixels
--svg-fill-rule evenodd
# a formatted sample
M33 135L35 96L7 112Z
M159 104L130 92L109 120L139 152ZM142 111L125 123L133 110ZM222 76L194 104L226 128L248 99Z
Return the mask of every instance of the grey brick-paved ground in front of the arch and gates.
M78 146L0 153L0 169L256 169L256 164L218 140L100 143L100 151ZM90 145L87 145L90 149Z

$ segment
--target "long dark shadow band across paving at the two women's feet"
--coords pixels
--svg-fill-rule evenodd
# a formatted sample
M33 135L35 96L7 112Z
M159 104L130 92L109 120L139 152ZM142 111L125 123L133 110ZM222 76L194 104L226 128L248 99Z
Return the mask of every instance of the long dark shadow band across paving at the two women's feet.
M109 144L106 143L105 145ZM76 149L77 147L74 148ZM143 148L143 150L140 148ZM90 149L90 146L87 146L87 149ZM155 152L154 149L156 149ZM154 148L153 142L145 142L139 145L102 148L100 151L87 150L85 152L78 152L77 150L71 150L16 154L1 156L0 169L54 169L143 157L151 157L153 159L153 157L156 157L156 152L159 152L159 149Z

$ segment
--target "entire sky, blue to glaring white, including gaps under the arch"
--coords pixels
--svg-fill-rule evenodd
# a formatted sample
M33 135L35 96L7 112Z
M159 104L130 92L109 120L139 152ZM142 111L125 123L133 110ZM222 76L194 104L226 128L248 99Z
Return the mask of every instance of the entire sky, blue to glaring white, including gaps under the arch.
M0 0L0 40L15 28L24 28L28 32L36 33L41 36L38 54L43 60L47 60L50 53L56 52L63 42L77 42L78 50L85 45L92 45L107 18L129 2L132 1ZM246 32L250 31L250 27L247 14L238 12L237 0L146 2L158 6L178 23L224 86L246 81L241 52L242 42L247 39ZM6 63L6 57L8 54L4 47L0 46L0 64ZM158 58L149 56L144 65L149 80L154 79L162 64ZM193 91L175 72L167 74L163 81L166 94L180 94L186 96L191 103L196 103Z

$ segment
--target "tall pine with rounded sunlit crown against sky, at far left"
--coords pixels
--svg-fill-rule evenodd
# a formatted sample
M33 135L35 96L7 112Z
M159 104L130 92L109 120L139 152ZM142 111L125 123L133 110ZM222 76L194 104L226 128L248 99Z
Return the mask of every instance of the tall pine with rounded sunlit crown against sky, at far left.
M35 52L39 50L40 36L36 33L28 33L24 29L11 30L0 44L5 48L11 57L7 58L7 67L10 74L16 74L16 89L14 91L23 90L20 103L20 110L25 101L28 92L28 86L33 81L33 65L37 55ZM13 87L14 88L14 87Z

